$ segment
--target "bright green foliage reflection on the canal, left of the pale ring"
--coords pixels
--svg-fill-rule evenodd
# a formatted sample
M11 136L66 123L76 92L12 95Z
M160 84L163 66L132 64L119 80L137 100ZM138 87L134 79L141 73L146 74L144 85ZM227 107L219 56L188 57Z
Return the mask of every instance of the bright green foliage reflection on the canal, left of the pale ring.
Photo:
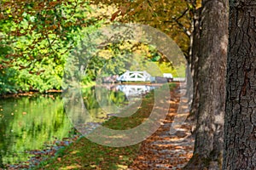
M60 95L1 99L0 108L2 164L27 161L28 150L68 137L73 127L63 114Z

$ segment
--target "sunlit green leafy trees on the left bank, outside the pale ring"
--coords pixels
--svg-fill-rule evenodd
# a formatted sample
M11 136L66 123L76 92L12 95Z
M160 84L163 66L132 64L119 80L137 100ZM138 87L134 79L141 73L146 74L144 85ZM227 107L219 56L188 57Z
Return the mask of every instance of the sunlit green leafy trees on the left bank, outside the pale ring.
M0 94L60 89L82 31L101 26L90 11L84 0L0 2Z

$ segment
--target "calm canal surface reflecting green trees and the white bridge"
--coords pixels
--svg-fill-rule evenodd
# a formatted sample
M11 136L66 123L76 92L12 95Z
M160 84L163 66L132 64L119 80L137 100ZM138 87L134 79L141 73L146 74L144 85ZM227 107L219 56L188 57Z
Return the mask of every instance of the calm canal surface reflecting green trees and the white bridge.
M105 122L110 114L140 104L141 97L137 94L151 89L142 85L83 88L84 106L90 113L83 123ZM27 161L28 150L43 150L45 143L67 138L73 131L61 94L0 99L0 167Z

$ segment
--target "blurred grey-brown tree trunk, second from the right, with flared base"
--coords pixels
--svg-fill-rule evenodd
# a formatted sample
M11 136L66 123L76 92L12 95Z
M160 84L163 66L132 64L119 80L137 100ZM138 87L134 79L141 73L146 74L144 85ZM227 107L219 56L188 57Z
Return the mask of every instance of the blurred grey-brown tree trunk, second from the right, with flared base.
M184 169L221 169L228 44L227 0L202 0L199 110L194 154Z

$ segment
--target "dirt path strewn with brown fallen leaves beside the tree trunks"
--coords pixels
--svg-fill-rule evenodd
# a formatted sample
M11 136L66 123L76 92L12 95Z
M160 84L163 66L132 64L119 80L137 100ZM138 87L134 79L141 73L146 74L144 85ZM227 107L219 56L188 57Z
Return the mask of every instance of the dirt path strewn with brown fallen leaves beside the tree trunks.
M160 128L148 139L143 141L140 153L129 169L181 169L193 154L194 139L189 132L189 124L179 123L178 119L188 116L188 110L180 107L177 109L181 93L172 92L171 107L166 120ZM185 102L181 99L181 102ZM170 134L173 122L176 133Z

